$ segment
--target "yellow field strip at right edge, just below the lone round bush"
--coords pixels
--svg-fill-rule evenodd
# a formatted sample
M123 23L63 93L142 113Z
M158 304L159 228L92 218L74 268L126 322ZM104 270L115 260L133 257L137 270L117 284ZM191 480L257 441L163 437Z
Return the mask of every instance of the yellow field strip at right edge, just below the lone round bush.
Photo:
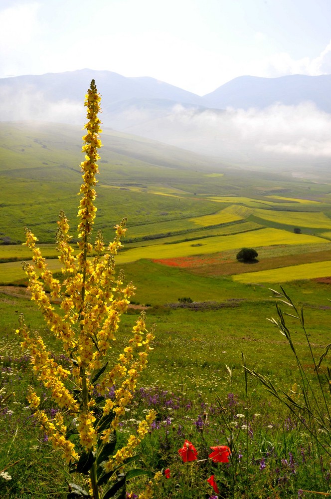
M259 272L247 272L233 275L232 279L244 284L259 284L261 282L286 282L329 276L331 276L331 260L303 263L301 265L291 265L288 267L273 268L271 270L260 270Z

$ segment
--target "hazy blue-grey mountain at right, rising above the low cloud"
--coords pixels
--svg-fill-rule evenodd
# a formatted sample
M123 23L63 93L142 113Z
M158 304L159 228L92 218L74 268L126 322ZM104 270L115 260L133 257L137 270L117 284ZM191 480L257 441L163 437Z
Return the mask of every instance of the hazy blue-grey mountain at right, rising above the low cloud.
M265 108L274 103L287 106L314 102L322 111L331 113L331 75L294 74L280 78L239 76L203 97L206 107L225 109Z

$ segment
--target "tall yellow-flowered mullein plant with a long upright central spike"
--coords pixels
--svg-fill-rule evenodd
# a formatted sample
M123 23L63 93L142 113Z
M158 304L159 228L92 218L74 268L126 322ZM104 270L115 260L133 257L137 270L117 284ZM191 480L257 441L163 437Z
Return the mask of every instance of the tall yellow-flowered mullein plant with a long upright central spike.
M126 219L115 227L115 239L107 252L100 233L94 245L91 243L97 211L94 200L100 158L97 151L101 147L101 122L97 116L100 100L92 80L85 100L88 123L83 137L85 161L81 163L83 183L78 211L77 256L69 244L69 225L62 211L57 222L56 242L62 263L62 282L48 269L36 246L36 237L25 229L25 245L32 251L34 264L23 262L23 269L28 276L32 300L41 310L53 336L61 342L63 352L72 361L71 369L64 369L55 362L41 336L30 333L23 317L20 318L17 332L22 348L31 357L37 379L42 381L59 408L54 418L49 418L40 406L40 398L30 388L27 398L34 416L53 447L62 452L70 473L81 473L85 478L85 488L84 482L82 487L69 484L68 499L125 498L126 480L149 474L137 469L126 473L125 465L135 461L136 448L156 417L155 411L150 411L139 424L137 434L131 435L124 447L117 448L116 430L133 398L137 379L147 365L154 326L147 331L145 313L142 312L133 326L128 346L116 363L109 365L107 353L116 339L121 314L127 310L135 287L131 282L123 283L122 271L115 273L114 256L122 246L120 239L125 235ZM95 256L89 256L91 253ZM50 289L50 296L45 291L46 286ZM52 304L55 299L60 302L59 309Z

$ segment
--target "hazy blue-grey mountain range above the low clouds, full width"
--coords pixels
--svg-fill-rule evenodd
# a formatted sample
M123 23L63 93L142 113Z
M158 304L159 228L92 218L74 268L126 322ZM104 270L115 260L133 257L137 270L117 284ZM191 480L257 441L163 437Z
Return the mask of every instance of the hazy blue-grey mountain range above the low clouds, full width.
M38 102L81 103L94 78L100 89L105 116L119 107L124 111L134 102L140 109L158 112L175 104L202 108L264 108L274 103L297 105L313 102L331 112L331 75L290 75L279 78L239 76L200 97L151 77L126 77L112 71L80 69L64 73L0 78L1 119L41 119ZM10 97L11 109L6 109ZM30 102L28 102L30 100ZM44 110L47 112L47 110ZM29 115L25 115L28 112ZM74 118L73 118L74 119ZM59 120L56 120L59 121ZM105 120L107 126L112 123Z

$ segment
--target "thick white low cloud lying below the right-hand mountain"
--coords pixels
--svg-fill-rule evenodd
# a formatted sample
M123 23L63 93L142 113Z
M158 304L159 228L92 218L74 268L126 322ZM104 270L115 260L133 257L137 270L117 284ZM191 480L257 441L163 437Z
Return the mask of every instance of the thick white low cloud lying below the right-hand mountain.
M195 152L247 161L268 155L331 159L331 115L311 102L226 111L176 105L165 117L144 118L126 131Z

